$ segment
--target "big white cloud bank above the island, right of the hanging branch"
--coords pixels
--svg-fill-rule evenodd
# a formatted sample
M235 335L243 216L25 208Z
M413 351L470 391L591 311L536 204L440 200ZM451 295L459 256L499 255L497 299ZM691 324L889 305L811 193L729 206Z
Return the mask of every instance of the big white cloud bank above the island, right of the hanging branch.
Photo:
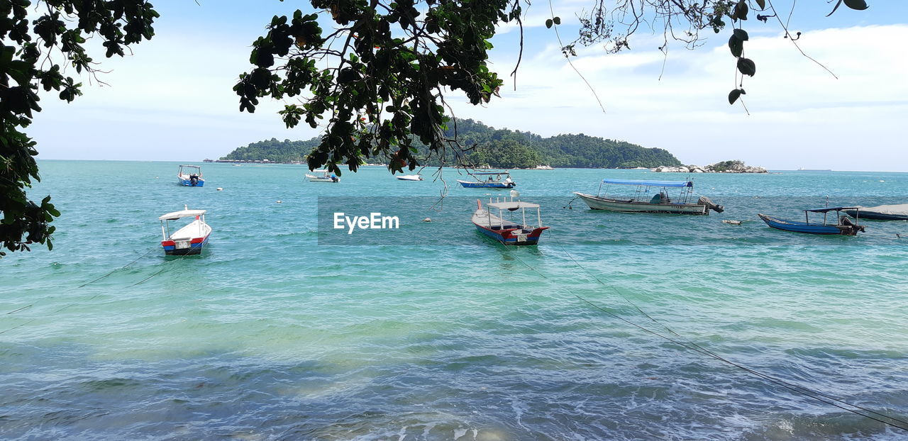
M663 57L656 50L607 55L584 49L574 64L606 114L550 44L525 57L517 93L508 83L503 99L488 109L460 105L457 111L496 127L585 132L661 147L683 162L739 158L773 168L908 170L901 132L908 62L897 55L906 39L905 25L804 34L798 44L835 79L781 34L752 36L745 55L755 60L757 73L745 78L743 97L749 116L726 101L735 88L735 59L725 44L674 50L661 81Z

